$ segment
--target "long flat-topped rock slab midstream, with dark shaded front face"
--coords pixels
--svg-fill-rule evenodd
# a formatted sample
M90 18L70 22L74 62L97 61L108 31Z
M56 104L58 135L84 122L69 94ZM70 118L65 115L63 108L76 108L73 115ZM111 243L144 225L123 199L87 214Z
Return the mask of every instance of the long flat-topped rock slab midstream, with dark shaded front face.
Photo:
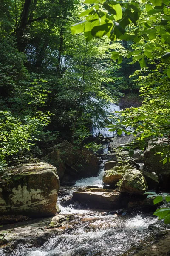
M73 192L73 200L99 209L119 209L119 193Z

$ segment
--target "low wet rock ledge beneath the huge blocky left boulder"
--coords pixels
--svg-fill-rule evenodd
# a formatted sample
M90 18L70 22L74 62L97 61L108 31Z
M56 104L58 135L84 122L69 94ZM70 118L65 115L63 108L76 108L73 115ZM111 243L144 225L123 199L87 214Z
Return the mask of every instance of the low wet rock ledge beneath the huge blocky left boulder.
M72 218L74 218L73 214L61 214L1 227L0 255L2 251L11 252L19 243L41 246L52 234L62 232Z

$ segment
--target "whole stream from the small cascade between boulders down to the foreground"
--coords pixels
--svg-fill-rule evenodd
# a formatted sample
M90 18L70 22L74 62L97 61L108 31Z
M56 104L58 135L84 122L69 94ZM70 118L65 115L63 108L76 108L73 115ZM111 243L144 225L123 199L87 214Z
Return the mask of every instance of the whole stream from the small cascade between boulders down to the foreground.
M108 211L74 209L60 204L62 198L71 195L78 187L102 187L103 172L104 163L98 177L79 180L74 187L62 186L66 195L58 199L60 214L74 214L64 232L52 235L39 248L20 244L11 256L130 256L150 243L157 233L169 229L152 214L118 216Z

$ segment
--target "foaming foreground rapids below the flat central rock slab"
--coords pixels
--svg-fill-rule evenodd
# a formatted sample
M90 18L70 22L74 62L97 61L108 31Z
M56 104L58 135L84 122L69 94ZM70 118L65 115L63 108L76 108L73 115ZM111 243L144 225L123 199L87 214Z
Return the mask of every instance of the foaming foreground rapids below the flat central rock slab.
M19 250L17 256L118 256L146 242L153 234L148 227L156 222L156 218L140 215L131 218L91 215L86 216L92 219L88 223L82 222L69 233L51 236L39 249Z

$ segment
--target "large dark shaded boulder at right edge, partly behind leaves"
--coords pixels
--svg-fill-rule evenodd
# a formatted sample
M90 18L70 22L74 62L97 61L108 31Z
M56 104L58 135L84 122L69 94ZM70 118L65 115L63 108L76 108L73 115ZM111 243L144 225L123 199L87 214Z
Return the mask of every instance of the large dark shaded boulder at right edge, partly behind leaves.
M159 143L157 145L150 145L144 152L144 156L146 157L144 163L144 170L148 172L155 172L159 177L159 183L161 186L161 190L169 189L170 184L170 163L167 161L166 164L163 165L161 158L161 154L156 154L157 152L163 152L165 148L169 148L170 146L166 143Z

